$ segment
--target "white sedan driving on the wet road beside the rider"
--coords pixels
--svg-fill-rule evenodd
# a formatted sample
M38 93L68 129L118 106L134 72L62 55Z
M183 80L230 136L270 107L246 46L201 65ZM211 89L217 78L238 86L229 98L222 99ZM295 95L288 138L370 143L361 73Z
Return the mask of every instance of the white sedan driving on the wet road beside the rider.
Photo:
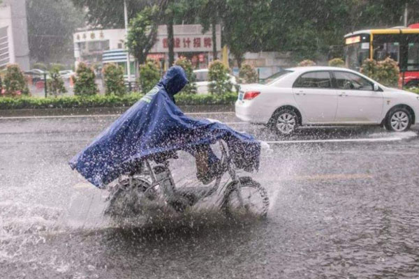
M404 132L419 115L419 95L345 68L289 68L267 84L242 85L235 114L280 135L304 125L382 125Z

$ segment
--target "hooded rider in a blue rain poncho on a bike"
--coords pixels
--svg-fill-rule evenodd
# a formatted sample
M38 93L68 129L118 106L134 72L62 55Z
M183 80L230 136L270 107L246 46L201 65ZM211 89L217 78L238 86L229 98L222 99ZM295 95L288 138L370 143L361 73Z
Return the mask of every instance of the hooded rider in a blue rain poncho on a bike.
M208 165L216 165L210 144L225 140L237 168L258 169L260 143L251 135L223 123L192 119L179 110L174 96L187 83L181 67L170 68L149 93L70 160L71 168L103 188L142 160L158 161L179 150L196 157L204 150Z

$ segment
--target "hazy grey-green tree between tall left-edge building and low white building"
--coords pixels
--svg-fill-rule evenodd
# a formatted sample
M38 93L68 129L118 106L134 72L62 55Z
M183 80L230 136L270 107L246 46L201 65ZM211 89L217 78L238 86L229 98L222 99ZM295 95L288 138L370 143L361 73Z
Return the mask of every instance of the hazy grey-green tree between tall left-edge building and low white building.
M73 33L84 24L84 12L68 0L27 0L31 59L71 61Z

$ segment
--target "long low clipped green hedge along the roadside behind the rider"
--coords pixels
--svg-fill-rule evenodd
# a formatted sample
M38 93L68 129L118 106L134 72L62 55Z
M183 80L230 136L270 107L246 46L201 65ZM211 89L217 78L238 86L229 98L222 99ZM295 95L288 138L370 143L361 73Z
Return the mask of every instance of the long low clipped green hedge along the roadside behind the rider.
M0 110L47 109L47 108L84 108L84 107L130 107L142 98L140 93L125 96L66 96L59 98L0 97ZM223 95L179 94L175 97L177 105L233 105L237 93Z

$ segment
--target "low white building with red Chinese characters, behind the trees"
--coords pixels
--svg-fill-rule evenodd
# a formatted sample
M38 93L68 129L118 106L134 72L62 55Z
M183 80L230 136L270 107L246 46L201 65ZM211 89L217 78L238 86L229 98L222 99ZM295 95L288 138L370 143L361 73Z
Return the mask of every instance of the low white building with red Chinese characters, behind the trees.
M212 33L202 33L200 24L175 25L175 59L186 56L196 68L207 68L212 57ZM160 25L157 40L149 51L149 58L161 63L163 68L168 66L168 32L166 25ZM126 32L124 29L105 29L80 31L74 33L74 50L76 66L81 61L87 63L120 63L126 68ZM216 26L216 50L221 56L221 27ZM132 60L134 61L134 59ZM137 67L131 64L133 71Z

